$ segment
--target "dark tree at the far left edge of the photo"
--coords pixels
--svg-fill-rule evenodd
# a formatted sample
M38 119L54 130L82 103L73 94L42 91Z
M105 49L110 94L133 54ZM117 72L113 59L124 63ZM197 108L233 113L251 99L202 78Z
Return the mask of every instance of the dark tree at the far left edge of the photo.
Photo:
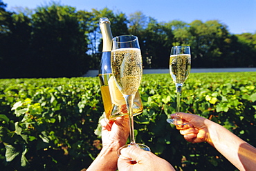
M30 19L1 8L1 78L26 77L30 53Z

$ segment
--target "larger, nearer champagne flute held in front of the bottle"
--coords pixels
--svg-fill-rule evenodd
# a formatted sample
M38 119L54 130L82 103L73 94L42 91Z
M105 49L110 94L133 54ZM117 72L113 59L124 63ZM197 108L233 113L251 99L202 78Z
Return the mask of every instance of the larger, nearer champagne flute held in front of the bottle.
M130 146L136 146L143 150L150 151L147 145L136 143L134 139L134 95L138 91L143 76L142 57L138 37L124 35L112 39L111 70L116 85L125 98L129 114L131 142L118 150L118 156L120 156L120 150L122 150L122 148Z

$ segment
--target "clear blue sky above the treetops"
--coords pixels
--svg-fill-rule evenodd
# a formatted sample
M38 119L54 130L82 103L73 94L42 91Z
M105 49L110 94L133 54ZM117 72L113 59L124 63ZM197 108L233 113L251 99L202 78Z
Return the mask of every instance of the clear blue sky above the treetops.
M191 23L199 19L203 22L219 20L228 26L232 34L256 32L256 0L0 0L15 7L36 8L56 1L61 5L75 7L77 10L102 10L107 7L113 12L129 14L141 11L158 22L174 19Z

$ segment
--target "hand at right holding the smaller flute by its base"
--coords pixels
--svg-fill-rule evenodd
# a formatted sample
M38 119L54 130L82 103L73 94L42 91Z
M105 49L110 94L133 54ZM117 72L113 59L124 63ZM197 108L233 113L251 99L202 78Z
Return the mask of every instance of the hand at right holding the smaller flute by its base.
M171 117L174 118L175 115L176 114L171 114ZM176 125L176 129L180 130L185 140L191 143L201 143L204 141L210 142L208 123L212 121L196 114L183 112L180 112L179 116L185 123L188 123L186 125Z

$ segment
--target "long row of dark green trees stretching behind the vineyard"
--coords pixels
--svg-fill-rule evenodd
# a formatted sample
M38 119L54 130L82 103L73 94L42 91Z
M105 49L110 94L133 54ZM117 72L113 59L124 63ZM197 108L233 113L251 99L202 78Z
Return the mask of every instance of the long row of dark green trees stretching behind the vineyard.
M0 78L81 77L98 69L100 17L109 18L114 37L138 37L144 68L168 68L172 46L190 46L192 68L256 66L256 32L231 34L217 20L158 22L139 11L89 12L55 2L15 12L6 6L0 0Z

